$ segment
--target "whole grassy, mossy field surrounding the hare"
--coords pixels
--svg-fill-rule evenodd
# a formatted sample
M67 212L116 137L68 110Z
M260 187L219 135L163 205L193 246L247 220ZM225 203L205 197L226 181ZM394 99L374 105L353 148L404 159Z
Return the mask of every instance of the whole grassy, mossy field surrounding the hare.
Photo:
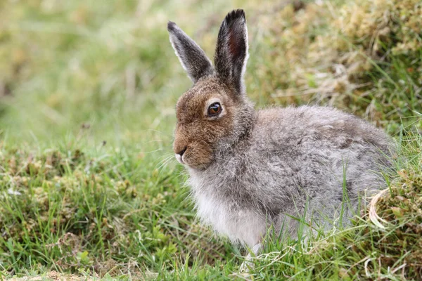
M172 152L191 86L174 20L212 56L245 8L257 107L321 104L397 141L397 174L352 226L246 253L195 218ZM1 1L0 279L422 280L422 4Z

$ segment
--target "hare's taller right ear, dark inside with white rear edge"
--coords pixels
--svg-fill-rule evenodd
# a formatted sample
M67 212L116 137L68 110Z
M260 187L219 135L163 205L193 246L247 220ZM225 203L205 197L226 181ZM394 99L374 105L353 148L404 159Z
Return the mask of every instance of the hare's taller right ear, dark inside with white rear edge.
M243 74L248 60L248 29L245 12L231 11L220 27L215 50L215 70L220 79L234 86L238 93L245 93Z

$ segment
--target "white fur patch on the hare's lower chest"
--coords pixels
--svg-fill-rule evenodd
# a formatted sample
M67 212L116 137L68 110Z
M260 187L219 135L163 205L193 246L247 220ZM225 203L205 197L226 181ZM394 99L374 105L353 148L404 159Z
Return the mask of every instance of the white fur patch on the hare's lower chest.
M218 198L204 191L200 181L191 177L193 200L200 220L233 242L253 247L265 235L265 218L254 210L242 209L230 198ZM210 187L212 188L212 187Z

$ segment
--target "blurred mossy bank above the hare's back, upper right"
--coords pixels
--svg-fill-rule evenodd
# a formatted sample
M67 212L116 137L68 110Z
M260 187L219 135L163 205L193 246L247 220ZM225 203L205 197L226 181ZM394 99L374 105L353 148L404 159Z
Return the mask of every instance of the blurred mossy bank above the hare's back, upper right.
M252 94L335 105L379 124L422 111L420 1L294 7L257 19L264 46L249 78Z

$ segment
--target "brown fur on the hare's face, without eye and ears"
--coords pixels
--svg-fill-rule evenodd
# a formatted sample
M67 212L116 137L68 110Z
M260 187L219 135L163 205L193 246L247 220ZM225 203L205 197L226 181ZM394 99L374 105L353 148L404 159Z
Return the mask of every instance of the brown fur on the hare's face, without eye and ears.
M206 77L179 98L173 148L175 153L186 148L184 162L188 166L205 169L215 157L212 151L218 140L234 131L233 115L237 106L230 93L215 77ZM212 98L221 102L224 111L221 118L211 119L205 115L207 101Z

